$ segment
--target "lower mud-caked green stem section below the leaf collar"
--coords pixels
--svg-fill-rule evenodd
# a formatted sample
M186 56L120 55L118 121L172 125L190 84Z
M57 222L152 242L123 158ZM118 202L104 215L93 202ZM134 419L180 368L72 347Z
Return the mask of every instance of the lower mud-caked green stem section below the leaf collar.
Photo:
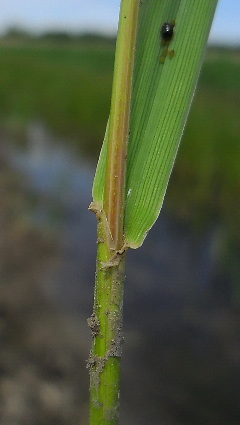
M90 425L117 425L119 416L120 357L125 256L112 252L98 224L98 256L94 309L88 319L93 344L90 371ZM110 259L109 259L110 258Z

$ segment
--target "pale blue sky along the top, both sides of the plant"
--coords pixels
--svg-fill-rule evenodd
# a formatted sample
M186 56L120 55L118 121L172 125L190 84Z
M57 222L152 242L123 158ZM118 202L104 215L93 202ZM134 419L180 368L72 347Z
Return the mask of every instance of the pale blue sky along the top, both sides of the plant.
M0 32L19 26L115 33L120 0L1 0ZM210 41L240 45L240 0L219 0Z

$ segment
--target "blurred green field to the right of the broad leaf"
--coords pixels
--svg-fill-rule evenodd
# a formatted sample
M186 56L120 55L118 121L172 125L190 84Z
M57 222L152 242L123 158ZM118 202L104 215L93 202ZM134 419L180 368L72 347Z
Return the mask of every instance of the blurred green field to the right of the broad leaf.
M194 221L240 233L240 51L208 50L172 175L169 200ZM173 195L174 191L174 195ZM169 193L169 195L170 195ZM184 197L180 193L184 193ZM181 197L181 199L179 199ZM234 223L234 224L233 224Z

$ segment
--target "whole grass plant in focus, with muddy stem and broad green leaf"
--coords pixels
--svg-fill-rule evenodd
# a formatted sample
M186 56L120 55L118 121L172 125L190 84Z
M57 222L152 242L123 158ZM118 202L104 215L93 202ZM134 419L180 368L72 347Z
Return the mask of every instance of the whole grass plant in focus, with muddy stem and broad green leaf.
M110 118L90 206L98 218L90 425L118 423L125 255L159 215L216 3L121 2ZM174 26L167 40L165 22Z

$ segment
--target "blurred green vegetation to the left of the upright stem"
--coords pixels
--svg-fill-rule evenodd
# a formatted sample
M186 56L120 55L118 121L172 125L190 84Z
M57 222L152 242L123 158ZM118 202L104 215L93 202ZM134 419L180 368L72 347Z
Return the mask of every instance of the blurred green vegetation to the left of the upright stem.
M115 40L85 35L62 42L58 35L0 41L0 125L19 136L38 119L96 155L110 108Z

